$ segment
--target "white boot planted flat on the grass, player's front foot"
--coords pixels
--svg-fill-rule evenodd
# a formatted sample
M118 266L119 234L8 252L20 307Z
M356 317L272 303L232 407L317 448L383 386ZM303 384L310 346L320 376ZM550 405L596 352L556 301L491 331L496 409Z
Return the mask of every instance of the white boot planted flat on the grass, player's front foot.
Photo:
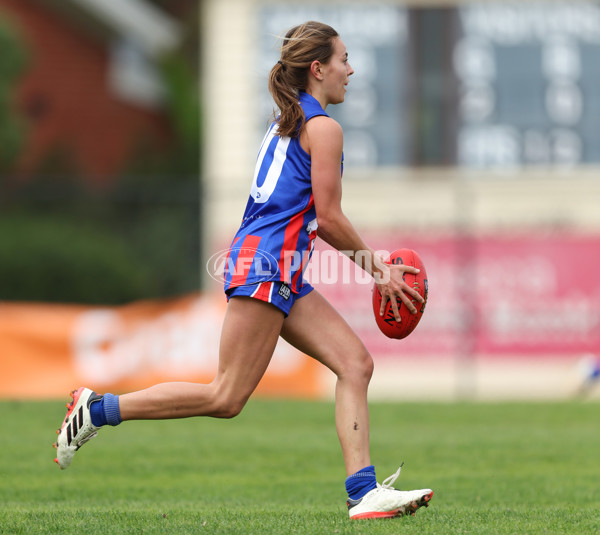
M348 498L350 519L392 518L408 514L414 516L419 507L428 507L429 500L433 496L431 489L398 490L392 487L401 470L402 466L381 485L378 483L377 488L370 490L359 500Z

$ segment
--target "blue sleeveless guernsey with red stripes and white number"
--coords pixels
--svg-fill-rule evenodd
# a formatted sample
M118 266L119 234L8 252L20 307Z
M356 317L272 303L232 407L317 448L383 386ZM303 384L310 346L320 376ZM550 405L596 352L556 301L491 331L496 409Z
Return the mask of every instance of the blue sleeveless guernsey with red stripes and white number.
M300 92L305 120L328 115L311 95ZM277 135L274 122L260 147L242 224L225 265L225 291L273 280L302 288L317 236L310 156L298 137Z

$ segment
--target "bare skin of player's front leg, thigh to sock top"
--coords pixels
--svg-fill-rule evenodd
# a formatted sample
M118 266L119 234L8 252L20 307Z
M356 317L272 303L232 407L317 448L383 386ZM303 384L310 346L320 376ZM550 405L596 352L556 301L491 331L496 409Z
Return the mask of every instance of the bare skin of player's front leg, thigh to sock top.
M281 336L337 376L335 419L347 475L370 465L367 390L373 360L363 343L316 290L294 303Z

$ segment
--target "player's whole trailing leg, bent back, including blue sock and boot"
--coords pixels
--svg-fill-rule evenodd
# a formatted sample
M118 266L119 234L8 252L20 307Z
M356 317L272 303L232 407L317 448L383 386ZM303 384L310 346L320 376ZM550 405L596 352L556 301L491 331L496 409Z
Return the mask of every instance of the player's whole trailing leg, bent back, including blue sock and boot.
M162 383L120 397L98 396L88 388L74 390L73 401L67 405L69 410L57 431L56 463L62 469L67 468L77 450L107 423L236 416L271 361L283 319L283 312L273 305L248 297L232 298L223 322L217 375L210 384ZM106 420L94 424L92 412L97 406L102 407Z

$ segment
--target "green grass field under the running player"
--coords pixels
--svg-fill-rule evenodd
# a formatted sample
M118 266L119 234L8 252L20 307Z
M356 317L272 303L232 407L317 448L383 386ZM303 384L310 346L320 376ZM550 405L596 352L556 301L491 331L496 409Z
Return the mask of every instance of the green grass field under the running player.
M330 403L129 422L61 472L63 406L0 403L0 533L600 533L598 404L373 404L379 480L405 461L396 486L435 495L416 517L357 522Z

